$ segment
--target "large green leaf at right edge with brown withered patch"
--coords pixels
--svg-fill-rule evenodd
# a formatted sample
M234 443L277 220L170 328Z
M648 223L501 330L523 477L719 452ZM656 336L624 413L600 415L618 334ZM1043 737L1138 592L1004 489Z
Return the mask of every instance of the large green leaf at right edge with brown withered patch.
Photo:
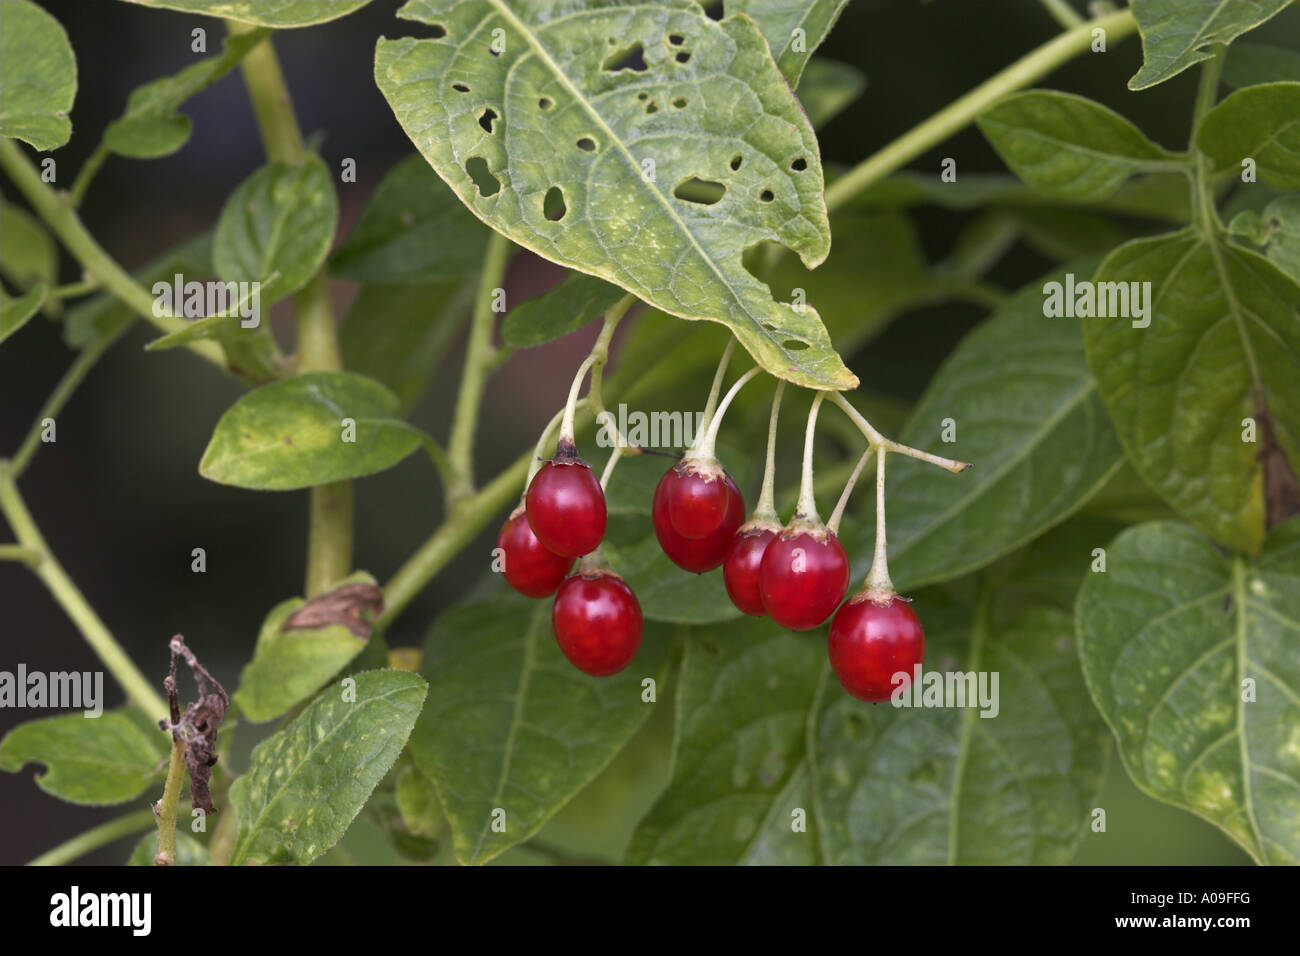
M1095 282L1152 284L1149 328L1084 320L1088 365L1138 473L1222 544L1258 551L1262 468L1243 419L1265 401L1300 460L1300 286L1196 229L1121 246Z

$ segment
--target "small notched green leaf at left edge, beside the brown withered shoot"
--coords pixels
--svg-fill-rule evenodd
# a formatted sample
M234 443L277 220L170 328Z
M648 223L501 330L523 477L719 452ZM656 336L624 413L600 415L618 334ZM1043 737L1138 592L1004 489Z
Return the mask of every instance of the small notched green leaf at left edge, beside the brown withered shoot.
M121 804L138 797L166 769L169 741L134 710L105 710L27 721L0 740L0 770L44 763L36 784L72 804Z

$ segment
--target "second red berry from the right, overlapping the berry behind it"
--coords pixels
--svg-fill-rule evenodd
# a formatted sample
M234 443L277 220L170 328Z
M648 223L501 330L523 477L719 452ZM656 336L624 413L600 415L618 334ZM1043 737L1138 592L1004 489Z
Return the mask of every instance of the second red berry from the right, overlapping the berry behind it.
M792 631L810 631L844 600L849 555L826 525L792 522L763 553L758 580L772 620Z

